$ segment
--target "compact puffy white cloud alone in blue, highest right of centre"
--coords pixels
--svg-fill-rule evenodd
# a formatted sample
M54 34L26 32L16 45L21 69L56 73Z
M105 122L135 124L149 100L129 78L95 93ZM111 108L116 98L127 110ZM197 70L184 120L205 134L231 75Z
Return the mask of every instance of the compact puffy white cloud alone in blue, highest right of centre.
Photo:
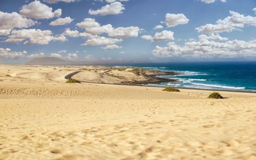
M167 27L174 27L177 25L187 24L189 19L184 14L170 14L165 15L165 23Z

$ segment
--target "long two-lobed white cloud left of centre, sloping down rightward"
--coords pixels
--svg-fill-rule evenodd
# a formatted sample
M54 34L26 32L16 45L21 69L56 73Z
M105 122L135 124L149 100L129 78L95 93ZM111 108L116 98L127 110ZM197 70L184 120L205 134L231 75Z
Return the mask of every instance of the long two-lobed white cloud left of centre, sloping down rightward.
M140 31L139 27L134 26L118 28L114 28L110 24L101 26L100 23L96 22L95 19L92 18L85 18L83 22L77 23L76 26L84 28L86 33L90 33L92 35L106 33L110 37L117 38L138 37Z

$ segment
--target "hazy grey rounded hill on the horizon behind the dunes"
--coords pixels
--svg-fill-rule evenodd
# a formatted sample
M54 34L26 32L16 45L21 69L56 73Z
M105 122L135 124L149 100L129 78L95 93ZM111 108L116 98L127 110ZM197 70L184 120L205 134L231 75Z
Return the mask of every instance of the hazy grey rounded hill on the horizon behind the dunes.
M26 65L68 65L71 64L70 61L65 61L57 57L42 57L34 58L26 63Z

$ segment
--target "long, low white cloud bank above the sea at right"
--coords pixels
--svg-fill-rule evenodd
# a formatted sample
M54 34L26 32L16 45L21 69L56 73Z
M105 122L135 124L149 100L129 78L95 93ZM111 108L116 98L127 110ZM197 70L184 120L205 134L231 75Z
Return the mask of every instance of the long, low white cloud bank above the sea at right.
M256 40L216 42L199 39L185 43L184 46L170 42L166 47L156 46L153 51L156 57L189 57L189 58L234 58L256 56Z

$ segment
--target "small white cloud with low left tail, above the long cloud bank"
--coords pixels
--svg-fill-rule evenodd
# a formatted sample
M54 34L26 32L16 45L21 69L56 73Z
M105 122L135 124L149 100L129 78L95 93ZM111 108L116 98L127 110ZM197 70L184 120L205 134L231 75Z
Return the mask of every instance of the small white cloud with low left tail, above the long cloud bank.
M173 32L170 30L163 30L161 33L156 33L154 37L150 35L141 36L143 39L151 40L151 41L167 41L174 40Z

